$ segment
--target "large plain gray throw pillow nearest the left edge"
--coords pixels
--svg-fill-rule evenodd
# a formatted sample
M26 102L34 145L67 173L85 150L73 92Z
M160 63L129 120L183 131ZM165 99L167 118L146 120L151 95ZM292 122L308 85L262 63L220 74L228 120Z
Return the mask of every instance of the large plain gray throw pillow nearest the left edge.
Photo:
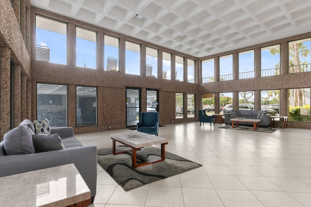
M31 133L24 125L11 129L3 136L6 155L21 155L35 153Z

